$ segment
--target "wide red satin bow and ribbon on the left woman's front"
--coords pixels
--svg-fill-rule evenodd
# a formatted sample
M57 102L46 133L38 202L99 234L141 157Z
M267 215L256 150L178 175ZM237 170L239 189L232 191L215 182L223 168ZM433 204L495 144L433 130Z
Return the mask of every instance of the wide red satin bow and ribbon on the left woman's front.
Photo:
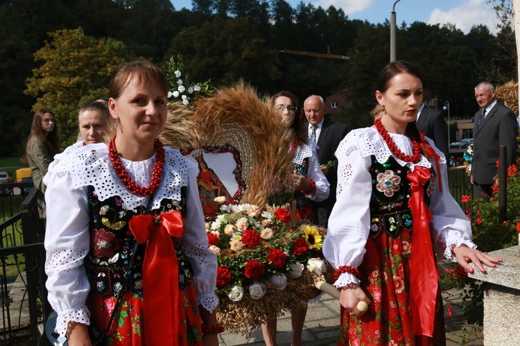
M146 345L177 345L179 342L179 265L172 236L184 232L180 211L134 216L130 230L139 243L146 244L143 261L143 315Z

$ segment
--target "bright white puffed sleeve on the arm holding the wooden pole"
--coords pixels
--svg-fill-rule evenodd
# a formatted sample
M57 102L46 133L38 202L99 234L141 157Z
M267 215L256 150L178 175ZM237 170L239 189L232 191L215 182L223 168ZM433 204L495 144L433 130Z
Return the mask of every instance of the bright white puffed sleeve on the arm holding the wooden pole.
M333 268L358 267L363 261L370 227L370 156L362 157L359 150L336 152L338 157L337 200L329 218L323 254ZM343 287L359 280L343 273L334 283Z

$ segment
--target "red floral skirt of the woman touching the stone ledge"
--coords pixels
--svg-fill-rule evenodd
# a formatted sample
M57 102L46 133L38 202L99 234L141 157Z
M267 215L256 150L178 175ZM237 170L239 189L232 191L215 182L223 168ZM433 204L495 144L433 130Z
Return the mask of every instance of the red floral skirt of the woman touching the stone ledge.
M444 309L437 291L433 338L414 336L410 310L412 236L401 230L396 238L382 232L368 239L360 266L361 288L371 304L362 318L341 308L338 345L445 345ZM432 249L433 255L433 249Z

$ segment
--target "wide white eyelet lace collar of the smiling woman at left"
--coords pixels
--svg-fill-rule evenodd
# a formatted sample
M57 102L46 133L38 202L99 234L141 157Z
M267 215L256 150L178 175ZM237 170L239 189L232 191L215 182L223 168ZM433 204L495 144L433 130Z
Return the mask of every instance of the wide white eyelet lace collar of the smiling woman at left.
M155 192L153 208L160 206L164 198L180 200L180 188L188 183L188 170L195 164L184 158L179 150L164 148L166 158L159 189ZM130 178L140 186L148 186L152 180L155 154L144 161L132 162L121 159ZM148 196L136 196L126 189L119 176L112 167L108 148L105 144L92 144L81 146L67 153L55 156L55 164L49 166L49 172L70 172L73 187L87 187L92 185L96 190L99 200L106 200L113 196L119 196L127 210L132 210L139 205L146 205Z

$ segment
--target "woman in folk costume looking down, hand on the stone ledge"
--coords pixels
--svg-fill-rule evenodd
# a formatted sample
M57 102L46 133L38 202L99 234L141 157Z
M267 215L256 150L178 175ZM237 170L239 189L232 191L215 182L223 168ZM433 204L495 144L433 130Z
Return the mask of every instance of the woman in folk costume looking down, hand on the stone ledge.
M383 116L350 132L338 157L338 200L323 252L340 288L339 345L443 345L435 254L485 271L501 259L480 252L448 188L446 159L415 127L419 70L391 62L379 76ZM358 311L358 302L369 304Z

